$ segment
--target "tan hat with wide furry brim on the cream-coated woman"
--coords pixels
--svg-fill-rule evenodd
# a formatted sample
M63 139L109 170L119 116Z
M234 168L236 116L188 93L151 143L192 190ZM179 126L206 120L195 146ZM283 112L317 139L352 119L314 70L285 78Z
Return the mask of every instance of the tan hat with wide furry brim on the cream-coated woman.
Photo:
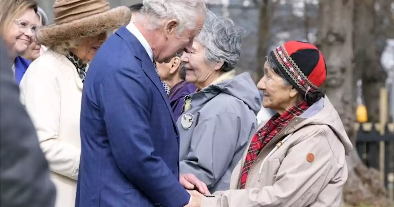
M56 0L53 7L55 24L41 27L36 35L38 42L47 46L94 37L131 19L128 7L110 9L106 0Z

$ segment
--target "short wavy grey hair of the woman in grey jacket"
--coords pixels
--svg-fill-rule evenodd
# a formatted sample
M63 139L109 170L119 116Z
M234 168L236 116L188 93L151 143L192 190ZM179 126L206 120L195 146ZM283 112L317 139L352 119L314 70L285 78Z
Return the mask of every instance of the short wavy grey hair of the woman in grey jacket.
M204 59L207 63L224 62L223 71L235 68L240 60L242 36L245 30L236 27L230 18L218 17L207 11L203 30L195 41L205 47Z

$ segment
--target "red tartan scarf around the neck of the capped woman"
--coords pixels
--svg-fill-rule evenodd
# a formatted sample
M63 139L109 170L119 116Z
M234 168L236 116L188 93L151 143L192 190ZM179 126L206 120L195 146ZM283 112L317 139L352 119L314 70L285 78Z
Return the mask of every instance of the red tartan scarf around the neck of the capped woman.
M245 183L249 170L252 168L253 162L256 160L260 151L271 141L275 135L279 134L280 131L292 120L294 116L301 115L305 110L308 109L307 102L299 102L297 105L291 107L279 116L276 113L271 119L264 125L263 128L258 130L253 136L250 142L245 163L243 164L241 179L238 183L238 189L245 189Z

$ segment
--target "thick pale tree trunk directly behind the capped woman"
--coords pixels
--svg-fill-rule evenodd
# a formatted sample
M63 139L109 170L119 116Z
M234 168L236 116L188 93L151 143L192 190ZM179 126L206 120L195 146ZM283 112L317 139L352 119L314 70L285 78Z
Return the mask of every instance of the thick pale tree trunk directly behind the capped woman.
M353 0L322 0L319 11L317 46L327 66L323 88L338 111L346 132L353 138Z

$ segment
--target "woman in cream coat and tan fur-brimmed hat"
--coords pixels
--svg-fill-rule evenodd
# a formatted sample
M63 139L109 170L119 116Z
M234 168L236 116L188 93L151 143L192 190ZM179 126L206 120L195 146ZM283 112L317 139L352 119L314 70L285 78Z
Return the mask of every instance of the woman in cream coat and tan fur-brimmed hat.
M75 205L80 161L80 107L87 63L106 32L130 22L130 9L105 0L56 0L54 23L37 32L48 50L20 83L21 101L37 129L57 187L56 207Z

